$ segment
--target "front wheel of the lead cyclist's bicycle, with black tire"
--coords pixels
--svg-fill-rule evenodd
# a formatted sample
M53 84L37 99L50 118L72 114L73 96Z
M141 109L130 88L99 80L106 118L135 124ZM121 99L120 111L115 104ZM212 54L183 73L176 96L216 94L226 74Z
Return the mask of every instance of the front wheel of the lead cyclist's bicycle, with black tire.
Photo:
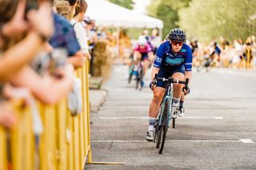
M166 101L165 103L165 108L162 114L162 124L159 129L159 136L158 136L158 141L159 141L159 148L158 148L158 153L162 154L162 150L164 148L165 142L166 142L166 133L168 130L168 119L169 119L169 111L170 111L170 101Z

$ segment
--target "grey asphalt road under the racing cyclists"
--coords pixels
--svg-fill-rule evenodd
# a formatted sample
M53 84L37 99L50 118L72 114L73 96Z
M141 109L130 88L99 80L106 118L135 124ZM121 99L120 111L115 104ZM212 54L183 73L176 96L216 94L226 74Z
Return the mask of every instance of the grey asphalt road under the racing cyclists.
M106 101L91 114L93 160L124 164L86 169L256 169L255 71L194 72L186 116L167 132L162 155L145 140L152 92L127 84L126 73L114 65Z

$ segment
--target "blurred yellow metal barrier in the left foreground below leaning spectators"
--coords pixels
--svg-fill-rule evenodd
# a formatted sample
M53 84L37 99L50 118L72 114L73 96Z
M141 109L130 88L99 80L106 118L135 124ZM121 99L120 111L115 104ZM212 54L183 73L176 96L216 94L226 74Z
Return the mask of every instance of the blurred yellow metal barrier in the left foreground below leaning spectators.
M88 61L77 75L82 81L82 113L72 117L63 99L58 105L38 110L43 132L35 135L30 108L14 105L18 125L12 130L0 126L0 170L83 169L92 162Z

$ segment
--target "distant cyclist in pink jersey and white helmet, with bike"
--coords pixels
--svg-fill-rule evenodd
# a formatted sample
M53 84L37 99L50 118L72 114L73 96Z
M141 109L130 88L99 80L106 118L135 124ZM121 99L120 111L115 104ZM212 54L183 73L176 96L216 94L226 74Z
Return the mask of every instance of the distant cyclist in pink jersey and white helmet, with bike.
M150 66L150 62L153 61L154 54L152 48L146 41L144 36L138 38L138 43L134 48L134 61L135 65L138 65L142 61L142 86L144 85L143 77L146 74L146 70Z

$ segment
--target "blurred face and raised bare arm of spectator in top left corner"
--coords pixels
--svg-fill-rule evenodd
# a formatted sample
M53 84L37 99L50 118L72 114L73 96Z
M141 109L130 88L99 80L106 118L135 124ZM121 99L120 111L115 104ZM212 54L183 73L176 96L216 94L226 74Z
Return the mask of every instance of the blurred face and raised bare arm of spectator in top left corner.
M18 4L18 6L16 6ZM9 8L9 7L10 8ZM7 8L8 7L8 8ZM25 1L0 1L0 81L8 81L23 65L30 61L41 49L42 39L49 38L53 33L50 18L50 4L42 2L38 11L28 14L28 21L24 20ZM37 22L37 21L45 22ZM29 25L30 28L29 29ZM26 38L10 46L10 38L27 31ZM2 42L2 43L1 43Z

